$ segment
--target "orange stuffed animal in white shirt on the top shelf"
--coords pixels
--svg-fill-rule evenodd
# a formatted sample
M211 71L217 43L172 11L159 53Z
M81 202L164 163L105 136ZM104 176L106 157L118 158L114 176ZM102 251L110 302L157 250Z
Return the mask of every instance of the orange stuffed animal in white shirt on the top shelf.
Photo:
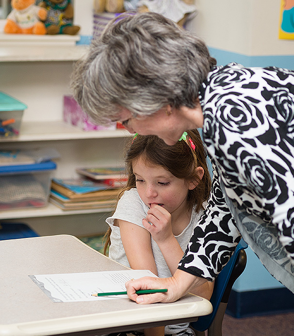
M47 11L36 6L35 0L12 0L12 11L6 18L6 34L46 34L45 20Z

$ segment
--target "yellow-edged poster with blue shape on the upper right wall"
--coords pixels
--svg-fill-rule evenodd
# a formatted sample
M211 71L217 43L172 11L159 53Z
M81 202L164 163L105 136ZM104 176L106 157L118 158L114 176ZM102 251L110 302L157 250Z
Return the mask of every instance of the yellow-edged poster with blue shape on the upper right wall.
M294 0L281 0L278 37L294 39Z

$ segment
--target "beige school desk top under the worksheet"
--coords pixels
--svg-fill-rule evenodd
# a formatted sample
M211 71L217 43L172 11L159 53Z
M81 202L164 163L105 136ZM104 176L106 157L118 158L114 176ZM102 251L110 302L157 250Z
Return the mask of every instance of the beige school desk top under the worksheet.
M192 294L151 305L128 299L52 302L28 275L127 269L71 235L3 240L0 255L0 336L101 335L191 321L212 311L209 301Z

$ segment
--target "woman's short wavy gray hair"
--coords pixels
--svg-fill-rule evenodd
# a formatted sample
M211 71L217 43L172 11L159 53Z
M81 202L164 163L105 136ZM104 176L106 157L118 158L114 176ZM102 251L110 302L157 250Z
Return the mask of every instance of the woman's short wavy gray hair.
M98 124L121 107L150 115L170 104L194 108L216 64L205 43L156 13L123 14L94 38L71 78L75 99Z

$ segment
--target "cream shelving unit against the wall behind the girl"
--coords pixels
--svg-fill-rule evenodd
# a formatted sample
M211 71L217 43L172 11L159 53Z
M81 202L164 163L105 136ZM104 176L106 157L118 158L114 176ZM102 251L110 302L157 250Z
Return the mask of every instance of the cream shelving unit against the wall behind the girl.
M4 21L0 20L0 31L3 31L1 24ZM0 33L0 90L30 106L30 110L25 111L20 134L17 137L1 137L1 148L52 146L60 153L55 177L74 177L76 167L120 164L123 138L131 135L124 129L82 131L63 122L60 102L65 94L69 94L69 78L74 62L89 48L88 45L76 45L80 38L64 34ZM46 235L59 233L60 227L67 234L87 235L105 228L104 219L96 214L112 211L112 208L64 211L49 203L44 208L0 211L0 220L26 218L27 224L33 225L41 235L42 232ZM79 215L83 214L87 221L81 224ZM68 215L72 215L70 219L66 218ZM60 225L55 225L56 222ZM43 228L44 223L47 223L46 228Z

